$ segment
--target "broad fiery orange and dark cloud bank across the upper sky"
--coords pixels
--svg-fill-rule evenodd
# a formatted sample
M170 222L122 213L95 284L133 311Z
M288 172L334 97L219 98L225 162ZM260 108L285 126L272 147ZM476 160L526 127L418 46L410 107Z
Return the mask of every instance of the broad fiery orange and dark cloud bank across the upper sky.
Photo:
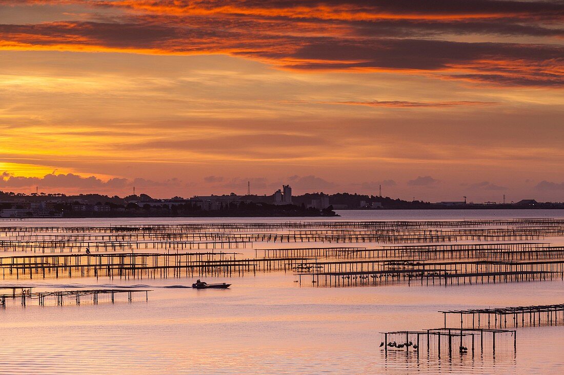
M298 71L427 72L504 86L562 86L564 5L539 1L28 1L89 20L0 25L5 50L227 54ZM20 2L0 4L21 6ZM96 16L96 10L115 14ZM125 10L125 13L124 13ZM21 7L25 11L25 6ZM96 19L98 17L98 19ZM461 41L474 35L473 41ZM511 37L522 42L490 42ZM442 73L447 73L446 75ZM444 75L444 77L443 77Z

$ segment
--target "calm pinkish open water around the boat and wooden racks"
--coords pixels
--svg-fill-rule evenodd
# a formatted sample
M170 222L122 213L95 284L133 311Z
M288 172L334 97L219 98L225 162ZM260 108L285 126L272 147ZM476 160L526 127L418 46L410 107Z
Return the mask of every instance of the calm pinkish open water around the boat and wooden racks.
M528 210L340 213L341 220L564 217L561 211ZM274 221L253 221L258 220ZM100 224L91 219L63 222ZM53 221L26 223L50 225ZM379 332L442 327L438 310L564 302L561 280L314 288L299 287L291 273L259 273L228 281L233 283L228 290L197 291L160 288L193 282L185 278L36 280L33 284L38 289L145 284L155 290L148 302L143 298L114 305L102 303L102 298L97 306L39 307L32 302L23 308L8 301L7 308L0 310L0 374L564 373L564 327L519 328L517 355L501 346L495 359L456 354L450 360L428 360L426 356L417 359L411 352L385 358L378 348Z

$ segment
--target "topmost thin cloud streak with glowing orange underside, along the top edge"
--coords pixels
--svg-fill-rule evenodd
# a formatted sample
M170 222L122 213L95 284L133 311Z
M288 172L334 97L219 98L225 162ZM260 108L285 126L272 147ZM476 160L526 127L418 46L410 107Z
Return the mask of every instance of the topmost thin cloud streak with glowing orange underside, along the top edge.
M387 1L161 1L115 0L100 5L171 15L253 15L261 17L316 18L324 20L379 19L500 19L515 17L549 18L562 16L562 7L552 2L435 1L432 6L417 0Z

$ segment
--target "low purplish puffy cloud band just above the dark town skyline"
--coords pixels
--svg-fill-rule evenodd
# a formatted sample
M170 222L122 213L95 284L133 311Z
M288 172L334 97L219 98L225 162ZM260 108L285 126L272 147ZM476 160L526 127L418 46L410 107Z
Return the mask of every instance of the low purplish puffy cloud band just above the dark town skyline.
M1 181L0 181L1 182ZM30 184L39 185L30 185ZM464 201L468 203L512 203L522 199L536 199L539 202L563 202L557 196L550 196L553 191L558 191L550 182L541 181L531 185L530 193L524 191L519 195L517 191L510 187L498 186L491 182L483 181L477 184L461 184L459 186L450 185L450 193L443 194L440 186L446 185L443 181L435 180L431 176L418 176L407 182L396 182L394 180L384 180L380 183L365 182L364 184L339 185L323 178L315 176L290 176L285 180L268 181L266 178L235 178L227 180L218 176L209 176L200 183L184 182L179 179L157 182L136 178L127 180L126 178L112 178L108 181L100 180L94 176L88 178L77 175L47 175L44 177L15 177L10 175L3 176L3 184L0 191L5 193L23 194L101 194L112 197L126 197L127 195L147 194L156 199L168 199L175 196L190 198L196 195L246 195L250 187L251 195L274 195L284 184L290 184L294 194L302 195L306 193L350 193L361 195L373 195L378 197L380 191L382 197L399 198L403 200L422 200L425 202L442 201ZM348 186L348 187L347 187ZM456 192L460 192L456 195Z

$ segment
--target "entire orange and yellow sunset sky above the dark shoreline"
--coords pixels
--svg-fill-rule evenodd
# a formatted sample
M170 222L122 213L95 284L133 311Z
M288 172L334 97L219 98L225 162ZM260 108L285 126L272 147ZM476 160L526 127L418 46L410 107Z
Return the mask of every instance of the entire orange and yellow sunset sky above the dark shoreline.
M564 1L0 0L0 190L564 200Z

